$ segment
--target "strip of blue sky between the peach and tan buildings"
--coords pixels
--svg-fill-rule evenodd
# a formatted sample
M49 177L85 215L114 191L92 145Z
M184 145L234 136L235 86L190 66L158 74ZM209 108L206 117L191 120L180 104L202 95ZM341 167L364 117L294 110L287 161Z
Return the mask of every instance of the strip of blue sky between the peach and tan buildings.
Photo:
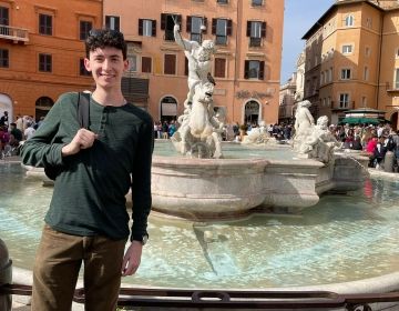
M335 0L285 0L282 84L296 71L297 58L305 47L300 38L334 3Z

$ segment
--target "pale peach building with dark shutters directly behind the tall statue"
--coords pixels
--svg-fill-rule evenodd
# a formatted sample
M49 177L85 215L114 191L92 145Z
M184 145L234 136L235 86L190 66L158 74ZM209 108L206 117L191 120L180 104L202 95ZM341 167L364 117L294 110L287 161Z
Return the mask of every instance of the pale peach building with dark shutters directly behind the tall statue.
M277 122L283 0L105 0L103 14L129 41L124 93L155 120L182 114L188 90L176 21L183 38L216 42L214 104L227 122Z

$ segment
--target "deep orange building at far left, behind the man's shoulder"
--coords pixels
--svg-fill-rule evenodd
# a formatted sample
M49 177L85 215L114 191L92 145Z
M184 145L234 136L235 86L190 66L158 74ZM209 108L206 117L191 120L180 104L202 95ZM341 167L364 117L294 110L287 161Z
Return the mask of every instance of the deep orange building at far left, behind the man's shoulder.
M0 114L44 116L66 91L92 88L83 40L102 0L0 0Z

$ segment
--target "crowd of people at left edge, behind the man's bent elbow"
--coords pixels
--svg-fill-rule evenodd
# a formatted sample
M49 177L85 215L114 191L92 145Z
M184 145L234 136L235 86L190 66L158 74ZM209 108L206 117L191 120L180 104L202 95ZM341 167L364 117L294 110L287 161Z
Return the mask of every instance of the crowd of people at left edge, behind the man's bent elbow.
M33 116L19 114L14 122L10 122L8 111L4 111L0 118L0 159L18 156L21 143L32 138L43 119L41 117L37 122Z

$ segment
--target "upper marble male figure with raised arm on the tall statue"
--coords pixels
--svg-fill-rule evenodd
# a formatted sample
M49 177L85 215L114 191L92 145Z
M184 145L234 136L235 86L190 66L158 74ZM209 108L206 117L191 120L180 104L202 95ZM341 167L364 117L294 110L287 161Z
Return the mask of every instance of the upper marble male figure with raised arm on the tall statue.
M211 57L216 51L215 43L212 40L204 40L202 44L197 41L190 41L182 38L180 26L176 23L173 28L175 41L184 49L184 54L188 60L188 93L184 107L190 109L197 83L206 83L211 76Z

